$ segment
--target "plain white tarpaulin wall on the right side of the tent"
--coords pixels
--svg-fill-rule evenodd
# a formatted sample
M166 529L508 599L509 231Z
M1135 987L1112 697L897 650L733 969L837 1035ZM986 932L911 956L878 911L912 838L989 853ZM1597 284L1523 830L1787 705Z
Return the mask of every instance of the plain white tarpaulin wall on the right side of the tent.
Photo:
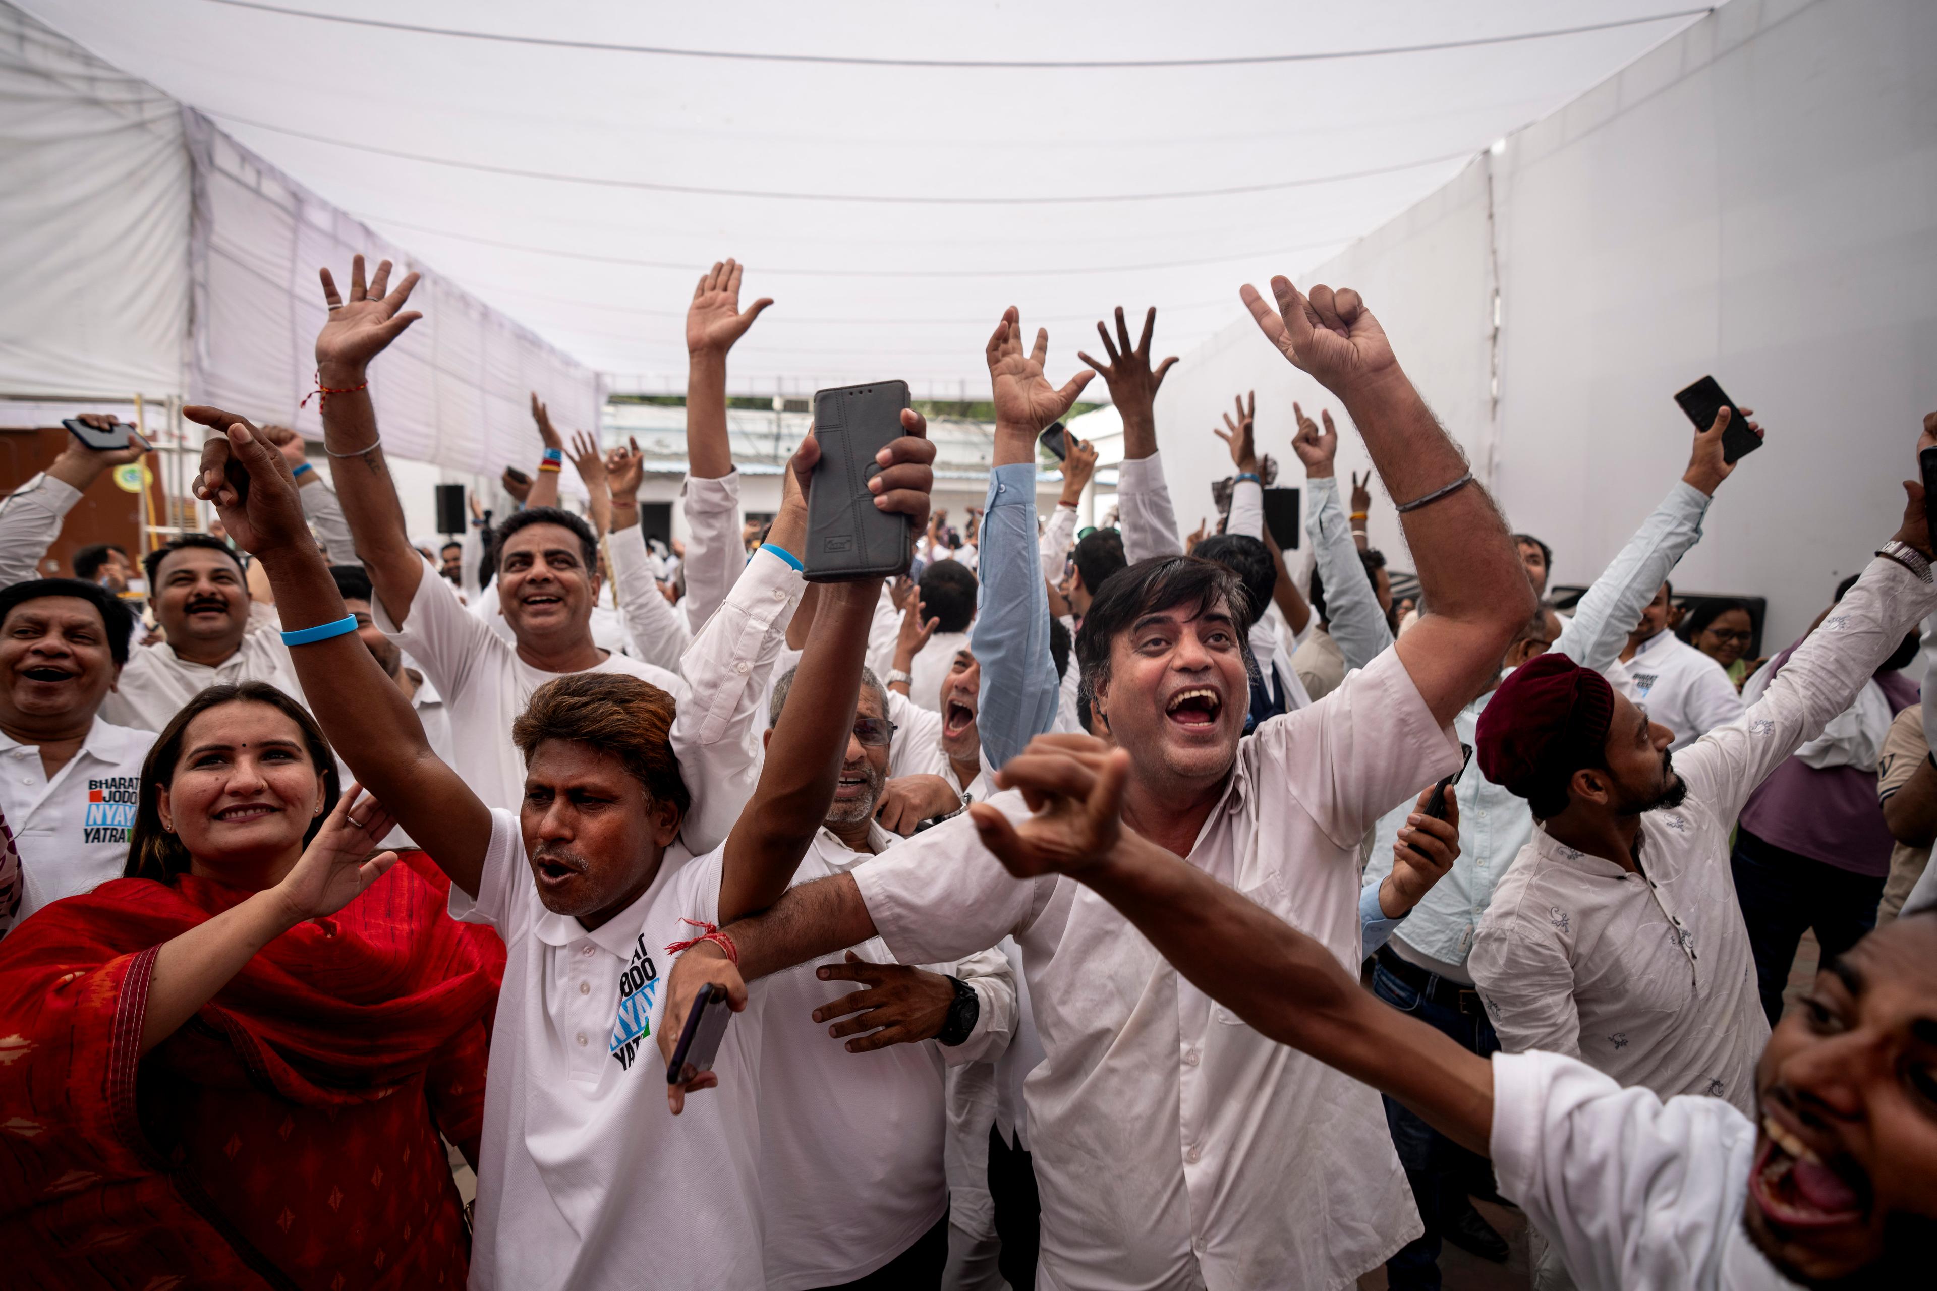
M1298 281L1364 290L1513 526L1553 546L1559 583L1600 573L1679 478L1672 395L1712 372L1768 447L1676 583L1768 596L1763 646L1782 648L1896 528L1937 408L1933 66L1927 0L1734 0ZM1209 428L1247 387L1261 447L1300 482L1290 405L1327 401L1232 323L1158 401L1185 528L1230 474ZM1346 432L1340 478L1366 465ZM1397 559L1383 497L1371 538Z

